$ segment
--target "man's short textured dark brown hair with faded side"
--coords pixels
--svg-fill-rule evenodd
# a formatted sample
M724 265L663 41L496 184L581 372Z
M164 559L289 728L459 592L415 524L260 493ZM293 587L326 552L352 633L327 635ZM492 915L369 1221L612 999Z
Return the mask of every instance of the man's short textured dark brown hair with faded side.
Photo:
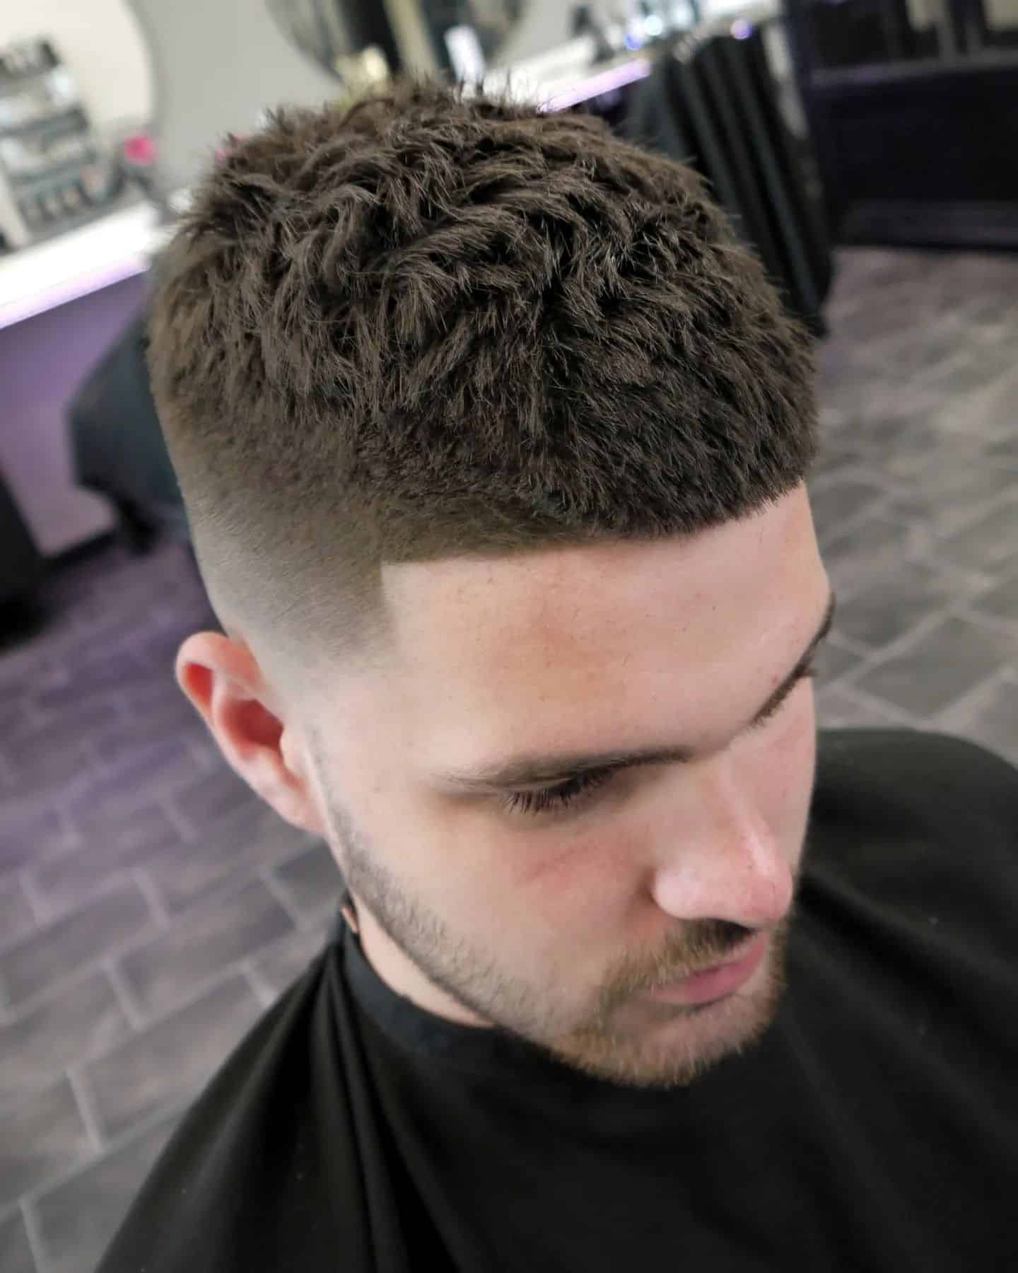
M230 634L372 659L384 563L690 535L807 475L813 337L690 167L428 79L230 141L148 353Z

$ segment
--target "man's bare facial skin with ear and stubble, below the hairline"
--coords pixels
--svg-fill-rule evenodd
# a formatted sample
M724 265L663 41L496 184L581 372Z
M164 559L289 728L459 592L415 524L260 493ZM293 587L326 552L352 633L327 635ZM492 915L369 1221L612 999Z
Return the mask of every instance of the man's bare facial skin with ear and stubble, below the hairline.
M330 843L378 975L624 1083L687 1085L757 1039L785 984L812 682L751 723L831 600L805 488L685 538L386 566L383 583L384 667L337 667L294 700L258 634L196 633L176 668L237 773ZM538 813L449 777L650 747L685 755ZM648 997L755 934L766 953L737 992Z

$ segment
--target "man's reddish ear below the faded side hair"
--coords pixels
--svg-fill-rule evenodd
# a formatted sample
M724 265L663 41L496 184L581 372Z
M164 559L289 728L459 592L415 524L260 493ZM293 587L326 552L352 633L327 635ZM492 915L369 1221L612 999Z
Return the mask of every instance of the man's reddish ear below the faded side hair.
M174 671L230 768L280 817L324 838L293 728L277 714L249 648L223 633L195 633L181 645Z

